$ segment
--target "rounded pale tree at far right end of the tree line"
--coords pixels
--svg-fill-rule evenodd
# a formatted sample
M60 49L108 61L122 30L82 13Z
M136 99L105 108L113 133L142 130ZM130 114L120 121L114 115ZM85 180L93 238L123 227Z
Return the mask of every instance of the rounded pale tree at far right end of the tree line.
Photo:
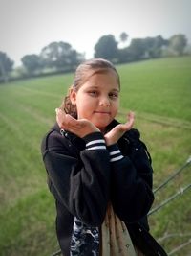
M187 38L185 35L178 34L173 35L169 39L169 48L177 55L182 55L184 48L187 45Z

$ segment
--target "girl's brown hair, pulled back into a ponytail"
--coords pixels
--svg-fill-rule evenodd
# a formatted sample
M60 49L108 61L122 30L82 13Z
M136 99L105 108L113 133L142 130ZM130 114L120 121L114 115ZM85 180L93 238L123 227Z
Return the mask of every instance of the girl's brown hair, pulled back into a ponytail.
M92 58L79 64L74 74L73 85L69 88L68 94L60 105L60 108L67 114L77 118L76 106L73 105L70 100L71 89L74 89L77 92L81 85L88 81L90 77L96 73L106 73L108 71L113 71L115 73L117 77L117 83L120 88L120 79L117 73L117 69L110 61L104 58Z

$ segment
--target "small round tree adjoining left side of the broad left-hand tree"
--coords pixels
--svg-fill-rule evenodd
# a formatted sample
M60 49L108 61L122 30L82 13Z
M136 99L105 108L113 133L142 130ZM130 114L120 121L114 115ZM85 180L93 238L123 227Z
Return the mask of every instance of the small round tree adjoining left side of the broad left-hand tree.
M26 55L21 58L21 61L30 75L34 75L42 66L41 59L38 55Z

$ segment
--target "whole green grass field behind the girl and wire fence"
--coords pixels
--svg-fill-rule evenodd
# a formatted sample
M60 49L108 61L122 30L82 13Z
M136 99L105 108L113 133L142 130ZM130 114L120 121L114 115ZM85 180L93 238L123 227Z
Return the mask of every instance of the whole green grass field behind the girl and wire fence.
M131 109L153 158L154 187L191 155L191 58L161 58L117 66L124 121ZM49 256L59 249L54 202L40 155L73 74L0 86L0 255ZM156 194L153 208L191 183L190 165ZM168 252L191 238L190 190L149 217ZM173 255L189 256L191 244Z

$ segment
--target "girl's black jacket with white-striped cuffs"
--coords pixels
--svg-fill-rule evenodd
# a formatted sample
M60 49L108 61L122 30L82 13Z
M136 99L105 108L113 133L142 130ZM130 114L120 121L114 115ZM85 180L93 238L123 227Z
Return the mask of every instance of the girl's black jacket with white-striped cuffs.
M108 129L116 125L117 121L113 121ZM81 139L55 124L42 141L48 184L55 198L56 233L62 253L70 255L74 216L87 225L100 227L108 201L111 201L133 243L145 255L166 255L148 232L146 215L154 200L153 170L138 130L126 132L117 145L96 150L88 148L93 141L103 139L100 132ZM118 149L124 157L111 162L110 152Z

